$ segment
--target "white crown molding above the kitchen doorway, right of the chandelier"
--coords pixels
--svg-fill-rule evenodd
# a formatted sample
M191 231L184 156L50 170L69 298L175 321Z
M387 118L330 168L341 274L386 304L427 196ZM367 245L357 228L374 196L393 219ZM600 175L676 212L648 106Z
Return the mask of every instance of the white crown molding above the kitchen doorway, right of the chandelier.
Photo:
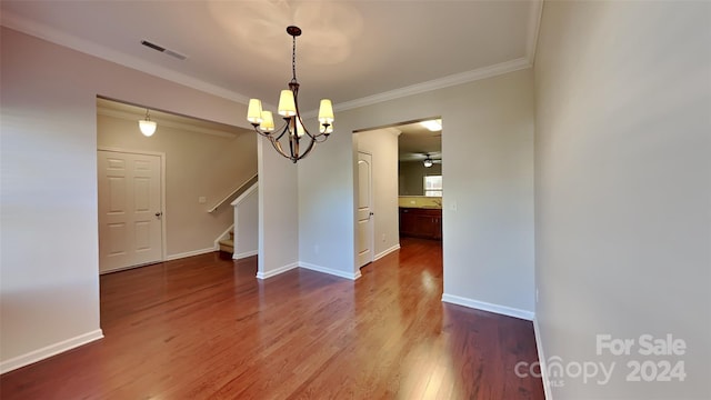
M515 60L501 62L498 64L479 68L472 71L461 72L451 74L444 78L434 79L431 81L412 84L409 87L368 96L364 98L346 101L342 103L334 104L333 108L337 111L346 111L360 107L371 106L379 102L400 99L408 96L419 94L429 92L432 90L449 88L458 84L469 83L473 81L478 81L481 79L487 79L495 76L500 76L508 72L513 72L522 69L531 68L531 63L524 57L518 58Z

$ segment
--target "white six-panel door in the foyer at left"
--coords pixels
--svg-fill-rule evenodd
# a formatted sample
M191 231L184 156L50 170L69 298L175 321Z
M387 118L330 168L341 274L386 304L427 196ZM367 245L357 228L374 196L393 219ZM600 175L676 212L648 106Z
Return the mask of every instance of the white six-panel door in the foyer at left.
M99 271L162 259L161 158L98 151Z

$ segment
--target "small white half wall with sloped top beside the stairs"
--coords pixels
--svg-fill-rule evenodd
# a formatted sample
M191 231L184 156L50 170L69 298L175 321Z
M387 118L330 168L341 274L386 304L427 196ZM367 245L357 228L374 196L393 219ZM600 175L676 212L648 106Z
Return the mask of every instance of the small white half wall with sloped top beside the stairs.
M234 259L254 256L259 250L259 188L248 189L234 208Z

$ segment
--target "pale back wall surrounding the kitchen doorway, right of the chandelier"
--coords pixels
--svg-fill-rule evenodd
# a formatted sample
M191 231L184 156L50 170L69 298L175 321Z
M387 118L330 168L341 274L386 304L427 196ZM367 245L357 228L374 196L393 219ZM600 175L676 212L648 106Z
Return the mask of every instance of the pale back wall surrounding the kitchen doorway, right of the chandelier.
M338 111L331 139L299 163L300 259L356 274L357 143L351 132L432 116L442 117L447 160L442 170L445 299L531 318L531 70ZM320 252L313 251L316 246Z

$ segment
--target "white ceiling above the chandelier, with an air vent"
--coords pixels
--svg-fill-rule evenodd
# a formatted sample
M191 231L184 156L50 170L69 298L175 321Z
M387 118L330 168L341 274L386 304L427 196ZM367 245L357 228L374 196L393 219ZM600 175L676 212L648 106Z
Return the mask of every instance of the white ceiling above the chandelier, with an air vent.
M321 98L338 112L528 68L541 8L541 0L0 2L11 29L267 108L291 79L286 28L297 24L304 112Z

